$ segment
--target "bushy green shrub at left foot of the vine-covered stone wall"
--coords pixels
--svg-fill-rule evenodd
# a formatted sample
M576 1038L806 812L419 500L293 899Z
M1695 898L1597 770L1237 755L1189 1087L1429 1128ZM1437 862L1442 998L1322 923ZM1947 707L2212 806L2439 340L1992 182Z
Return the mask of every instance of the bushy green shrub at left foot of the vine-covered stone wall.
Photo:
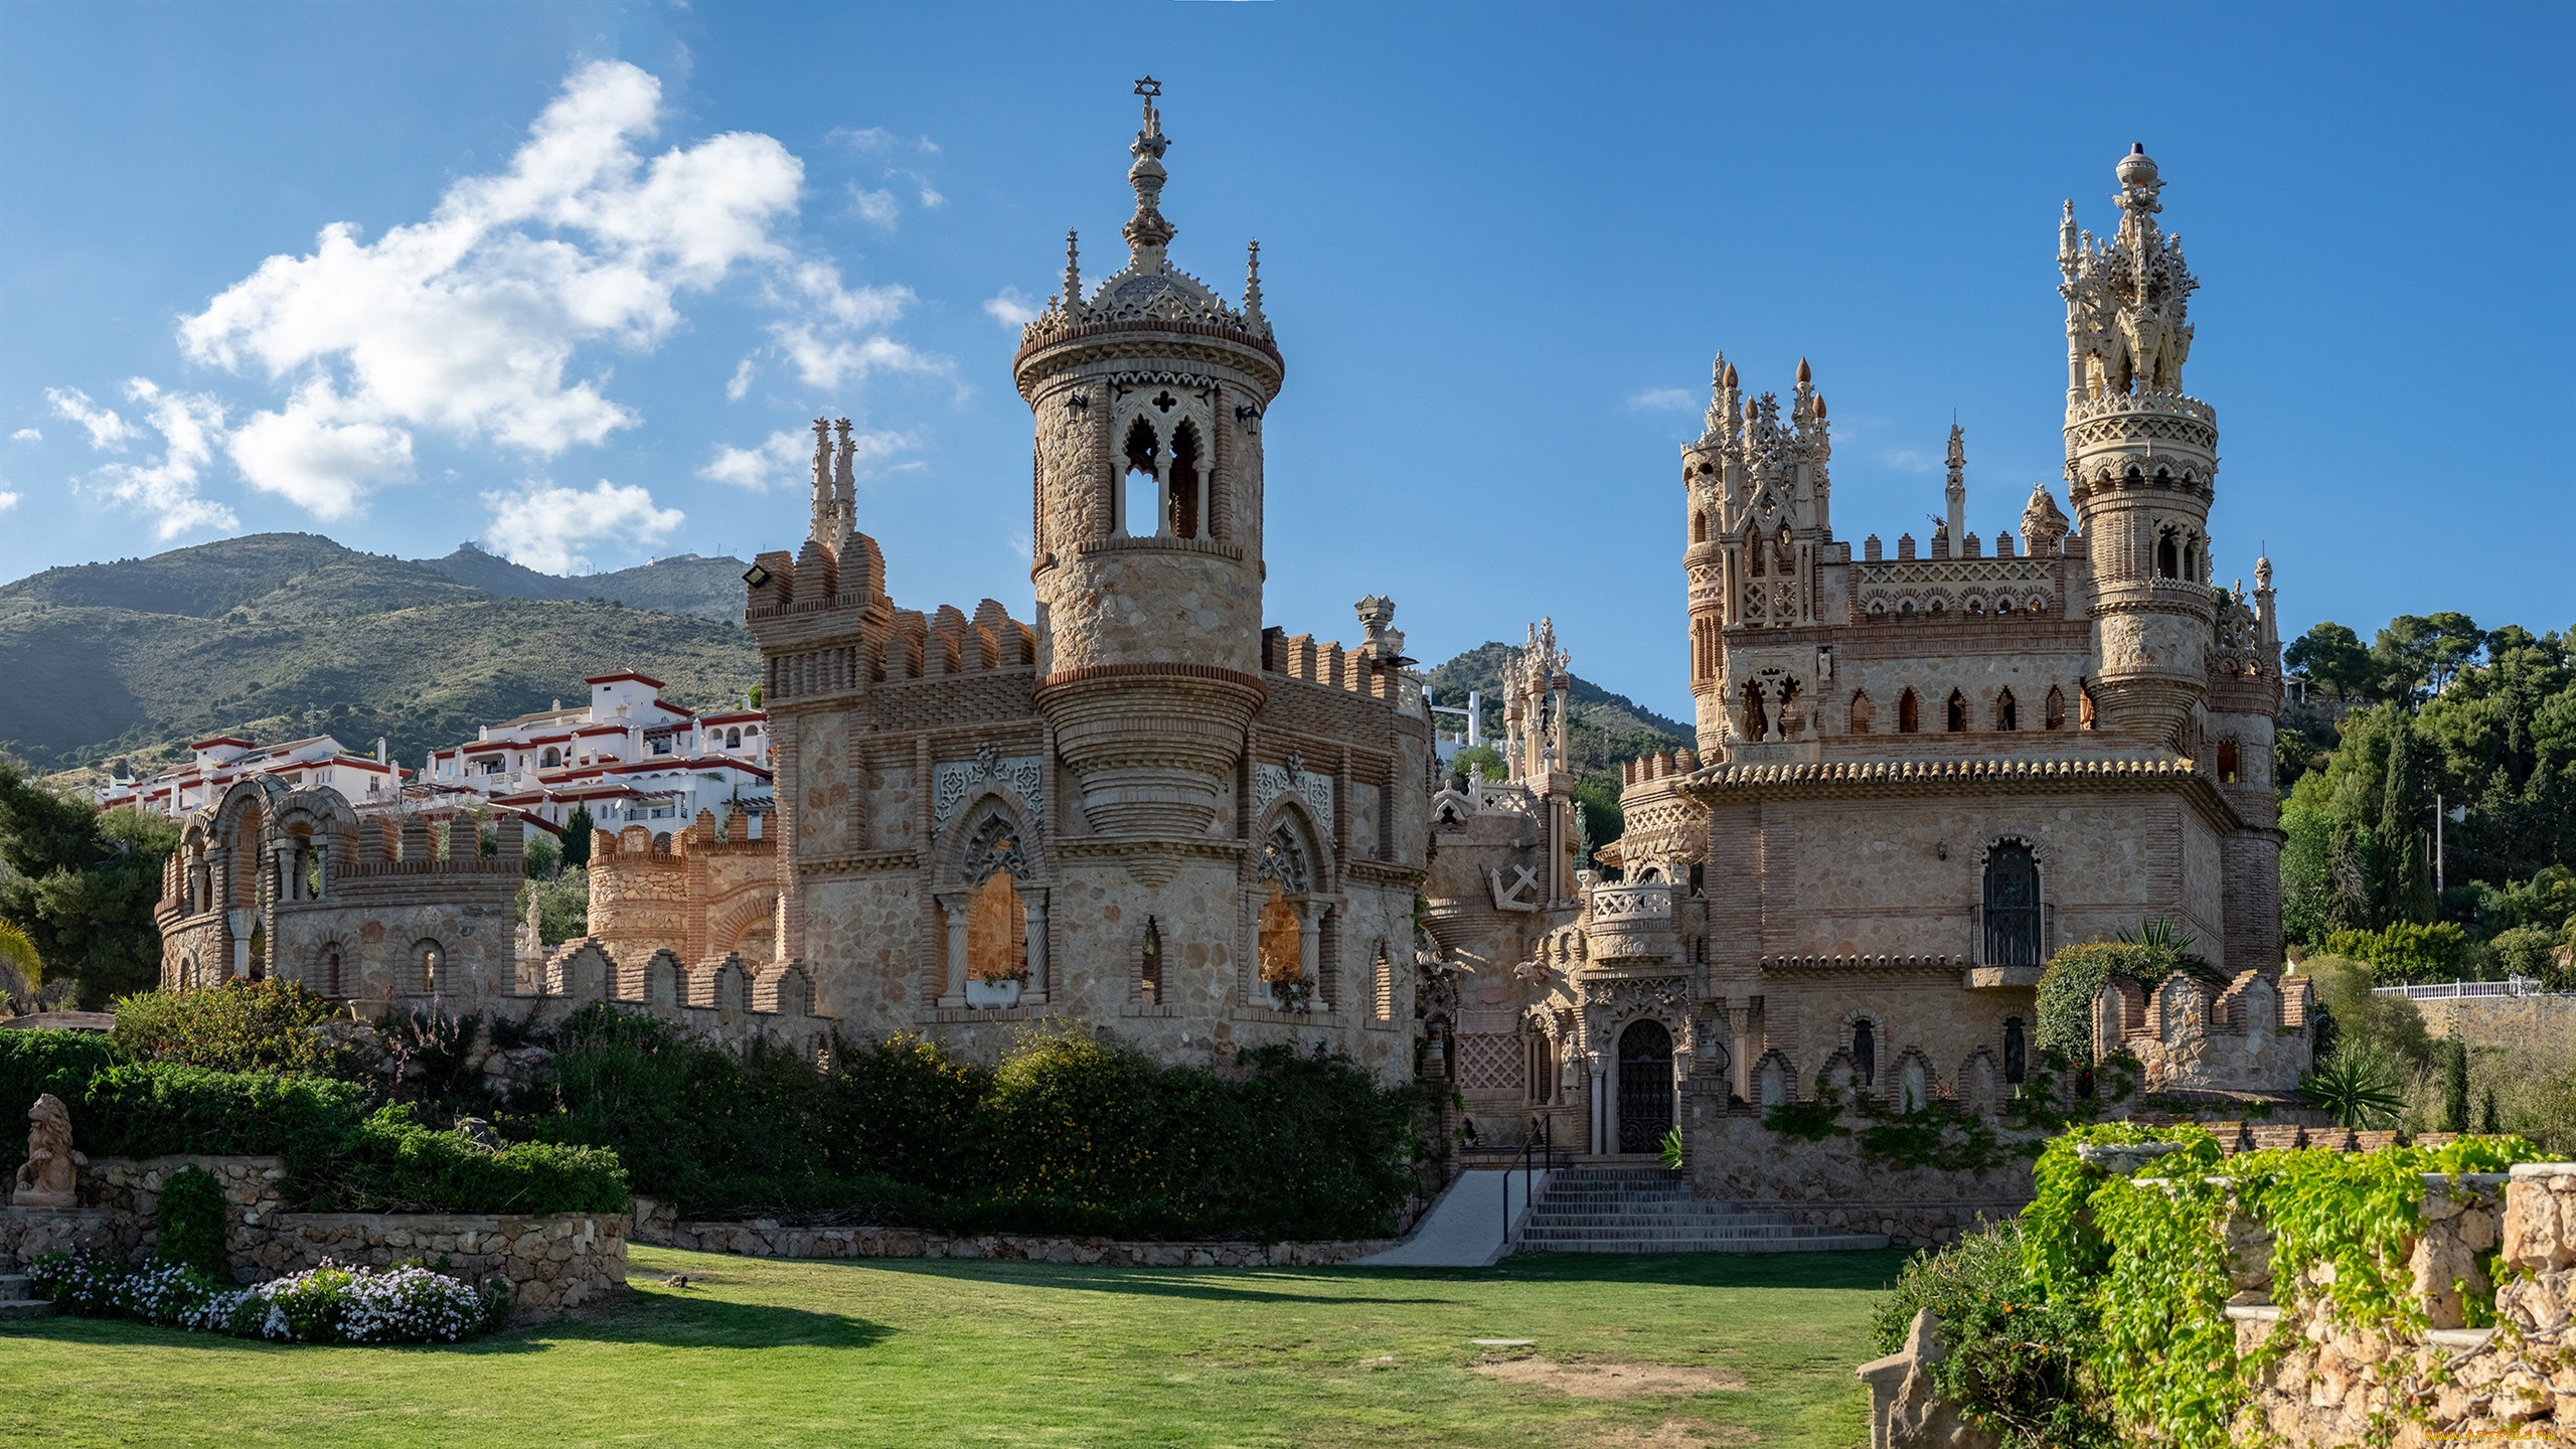
M1950 1351L1932 1369L1932 1382L1965 1421L2027 1449L2117 1444L2084 1395L2097 1318L2084 1299L2050 1299L2030 1276L2017 1225L1994 1225L1909 1258L1873 1320L1878 1348L1899 1351L1924 1307Z

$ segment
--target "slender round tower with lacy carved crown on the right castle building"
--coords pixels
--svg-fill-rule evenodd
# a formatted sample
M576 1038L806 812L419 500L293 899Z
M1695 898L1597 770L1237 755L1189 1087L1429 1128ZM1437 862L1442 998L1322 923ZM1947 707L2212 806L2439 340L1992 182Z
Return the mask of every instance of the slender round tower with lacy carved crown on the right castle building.
M2120 157L2120 229L2058 227L2066 297L2066 482L2092 539L2094 701L2105 730L2179 745L2208 688L2218 590L2210 485L2218 413L2182 394L2200 286L2164 235L2156 162Z

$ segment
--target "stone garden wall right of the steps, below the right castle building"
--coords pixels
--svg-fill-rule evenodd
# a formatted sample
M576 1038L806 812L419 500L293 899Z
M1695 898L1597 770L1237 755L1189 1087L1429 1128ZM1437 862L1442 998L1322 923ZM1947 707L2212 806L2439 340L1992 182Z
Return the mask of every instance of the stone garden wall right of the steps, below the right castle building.
M1801 1142L1772 1132L1757 1106L1698 1109L1690 1132L1692 1194L1819 1227L1886 1232L1906 1248L1950 1243L2030 1201L2027 1158L1984 1173L1901 1168L1870 1158L1852 1137Z

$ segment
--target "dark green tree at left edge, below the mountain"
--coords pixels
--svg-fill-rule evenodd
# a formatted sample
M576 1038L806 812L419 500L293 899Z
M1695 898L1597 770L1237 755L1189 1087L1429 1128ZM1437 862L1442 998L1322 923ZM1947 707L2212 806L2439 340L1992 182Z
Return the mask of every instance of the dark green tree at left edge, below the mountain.
M178 825L142 810L100 812L0 761L0 920L26 931L49 977L82 1008L160 985L162 861Z

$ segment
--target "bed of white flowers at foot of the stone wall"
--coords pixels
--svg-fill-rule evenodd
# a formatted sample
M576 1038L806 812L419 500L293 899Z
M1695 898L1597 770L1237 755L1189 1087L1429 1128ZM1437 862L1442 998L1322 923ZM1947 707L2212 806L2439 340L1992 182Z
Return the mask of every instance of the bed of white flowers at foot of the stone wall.
M108 1253L49 1253L26 1274L64 1312L278 1343L456 1343L510 1318L505 1281L471 1287L417 1263L350 1269L325 1258L247 1289L183 1263L126 1263Z

